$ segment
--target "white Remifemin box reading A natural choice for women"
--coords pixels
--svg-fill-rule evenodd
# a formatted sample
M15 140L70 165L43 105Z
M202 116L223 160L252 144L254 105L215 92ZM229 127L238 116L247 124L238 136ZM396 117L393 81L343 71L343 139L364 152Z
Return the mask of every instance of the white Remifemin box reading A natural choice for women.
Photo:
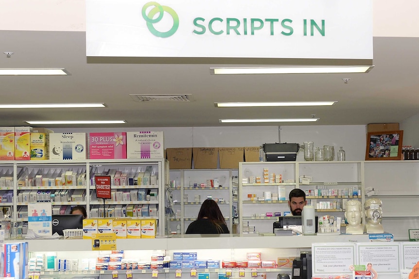
M127 159L158 159L164 157L162 131L138 131L126 133Z

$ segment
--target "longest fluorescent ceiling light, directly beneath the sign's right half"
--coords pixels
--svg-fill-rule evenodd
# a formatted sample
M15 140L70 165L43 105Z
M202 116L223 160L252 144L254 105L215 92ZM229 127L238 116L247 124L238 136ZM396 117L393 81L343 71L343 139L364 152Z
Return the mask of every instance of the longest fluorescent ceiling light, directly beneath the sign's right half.
M374 66L304 66L210 68L211 75L368 73Z

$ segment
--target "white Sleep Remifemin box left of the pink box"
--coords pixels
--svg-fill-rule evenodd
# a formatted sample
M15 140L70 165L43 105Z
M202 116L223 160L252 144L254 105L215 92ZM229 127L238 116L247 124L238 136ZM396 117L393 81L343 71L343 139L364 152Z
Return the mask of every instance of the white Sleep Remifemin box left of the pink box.
M50 134L50 160L85 160L86 133Z

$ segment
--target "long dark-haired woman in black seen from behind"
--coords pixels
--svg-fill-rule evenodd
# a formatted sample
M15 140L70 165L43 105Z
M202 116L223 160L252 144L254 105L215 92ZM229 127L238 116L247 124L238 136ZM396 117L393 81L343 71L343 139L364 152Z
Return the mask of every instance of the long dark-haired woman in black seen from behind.
M186 234L220 234L230 233L226 220L217 203L212 199L206 199L198 213L198 219L193 221Z

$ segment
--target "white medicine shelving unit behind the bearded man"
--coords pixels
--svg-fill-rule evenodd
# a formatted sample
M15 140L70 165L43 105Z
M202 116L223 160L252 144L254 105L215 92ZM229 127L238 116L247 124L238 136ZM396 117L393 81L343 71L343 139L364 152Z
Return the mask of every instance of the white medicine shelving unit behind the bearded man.
M361 164L362 162L240 163L240 233L243 235L272 232L272 223L278 219L278 216L289 213L288 195L294 188L305 191L308 204L313 204L316 212L321 212L318 215L331 214L340 216L344 220L344 206L337 208L336 201L340 204L349 198L362 197L353 194L349 196L349 189L348 194L345 195L343 192L342 196L333 196L334 193L329 193L327 189L326 195L326 187L342 191L345 188L356 189L360 190L361 194L363 189ZM302 177L305 180L301 180ZM314 193L316 188L320 196L317 192ZM358 194L358 191L356 193ZM313 195L310 196L311 194ZM317 195L314 196L315 194Z

